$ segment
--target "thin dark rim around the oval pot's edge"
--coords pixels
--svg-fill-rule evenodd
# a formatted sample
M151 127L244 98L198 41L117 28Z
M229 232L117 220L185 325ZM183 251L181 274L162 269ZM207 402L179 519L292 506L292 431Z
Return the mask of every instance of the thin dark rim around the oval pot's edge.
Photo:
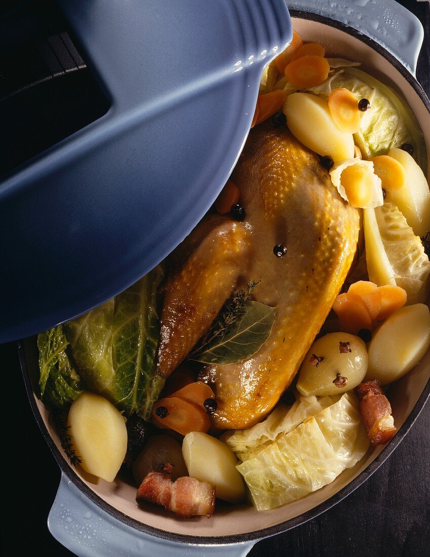
M390 62L390 64L394 66L394 68L409 82L409 84L413 87L414 91L420 97L424 106L426 107L427 111L430 114L430 100L428 99L426 93L424 92L422 86L418 83L416 78L403 66L401 62L399 62L399 60L397 60L397 58L395 58L390 52L385 50L384 47L380 46L372 38L369 38L367 35L364 35L360 31L355 30L353 27L349 27L344 23L340 23L328 17L319 16L318 14L292 9L290 10L290 16L299 19L309 19L311 21L323 23L324 25L334 27L340 31L347 33L350 36L358 38L361 42L364 42L366 45L372 47L373 50L378 52L388 62ZM304 524L305 522L312 520L315 517L322 514L323 512L329 510L331 507L336 505L339 501L343 500L346 496L348 496L353 491L355 491L357 487L359 487L362 483L364 483L370 476L372 476L372 474L375 471L378 470L378 468L382 465L382 463L389 457L389 455L400 444L400 442L402 442L403 438L408 433L409 429L411 429L413 423L416 421L419 413L422 411L424 407L424 404L426 403L427 399L430 396L430 379L429 379L426 384L426 387L424 387L423 392L418 398L417 403L415 404L411 413L409 413L409 416L403 423L403 426L400 427L399 431L395 434L393 439L387 444L387 446L383 449L383 451L380 452L380 454L370 463L370 465L367 468L365 468L365 470L363 470L357 477L355 477L352 481L350 481L348 485L341 488L336 494L331 496L328 500L322 502L320 505L317 505L313 509L304 512L301 515L295 516L289 520L280 522L279 524L264 528L262 530L255 530L252 532L246 532L243 534L234 534L228 536L192 536L186 534L177 534L175 532L168 532L166 530L160 530L158 528L143 524L143 522L139 522L138 520L130 518L129 516L125 515L123 512L107 504L106 501L104 501L103 499L101 499L101 497L96 495L95 492L92 491L91 488L88 487L86 483L84 483L81 480L81 478L77 475L77 473L71 468L69 463L67 463L65 458L61 455L56 444L53 442L50 433L48 432L45 422L43 422L42 416L37 408L35 394L33 393L33 389L30 382L30 376L28 374L24 343L22 340L20 340L18 341L17 345L18 345L19 363L21 365L25 388L28 395L28 399L30 400L32 412L35 416L38 426L41 429L42 435L45 438L48 447L50 447L51 452L55 457L55 460L57 461L57 464L60 467L61 471L65 473L65 475L69 478L69 480L72 481L74 485L77 488L79 488L79 490L86 497L88 497L88 499L90 499L90 501L92 501L95 505L100 507L100 509L107 512L107 514L114 517L116 520L123 522L124 524L132 527L135 530L145 532L145 534L153 535L156 538L161 538L164 540L175 541L184 544L225 545L225 544L234 544L234 543L241 543L241 542L243 543L246 541L257 541L263 538L268 538L270 536L281 534L282 532L291 530L296 526Z

